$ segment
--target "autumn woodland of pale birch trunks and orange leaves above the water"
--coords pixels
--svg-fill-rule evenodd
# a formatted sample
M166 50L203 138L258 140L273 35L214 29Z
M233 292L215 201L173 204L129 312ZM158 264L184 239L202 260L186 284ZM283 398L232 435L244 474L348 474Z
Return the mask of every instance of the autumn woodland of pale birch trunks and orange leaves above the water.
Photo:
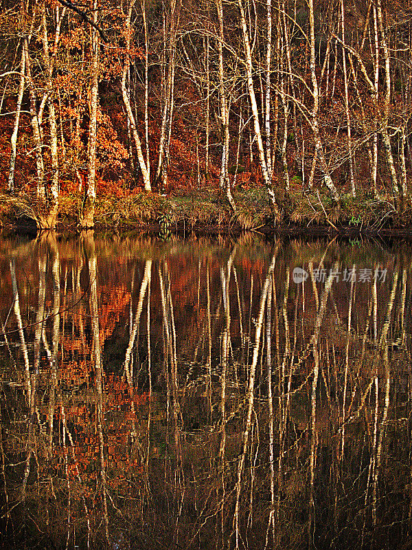
M0 224L407 228L411 15L3 0Z

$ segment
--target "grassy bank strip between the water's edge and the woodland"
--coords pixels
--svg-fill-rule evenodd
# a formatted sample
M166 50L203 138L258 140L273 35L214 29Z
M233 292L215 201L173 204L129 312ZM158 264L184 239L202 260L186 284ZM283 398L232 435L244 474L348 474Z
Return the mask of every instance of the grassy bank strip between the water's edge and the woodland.
M96 230L134 230L159 232L167 237L172 232L201 230L259 231L282 234L412 234L410 201L396 205L393 197L363 193L353 198L342 195L334 205L319 190L293 190L278 197L281 212L275 216L263 186L233 190L236 211L233 212L225 193L214 188L201 188L170 195L141 190L101 195L95 203ZM78 230L78 213L82 196L60 198L58 232ZM5 230L36 230L36 212L27 195L0 195L0 226Z

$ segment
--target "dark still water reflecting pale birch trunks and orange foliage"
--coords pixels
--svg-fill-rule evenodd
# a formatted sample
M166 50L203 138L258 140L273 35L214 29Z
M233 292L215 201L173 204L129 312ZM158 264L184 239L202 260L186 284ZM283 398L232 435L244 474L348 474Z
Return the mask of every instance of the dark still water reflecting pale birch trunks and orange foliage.
M409 245L0 250L4 548L411 548Z

